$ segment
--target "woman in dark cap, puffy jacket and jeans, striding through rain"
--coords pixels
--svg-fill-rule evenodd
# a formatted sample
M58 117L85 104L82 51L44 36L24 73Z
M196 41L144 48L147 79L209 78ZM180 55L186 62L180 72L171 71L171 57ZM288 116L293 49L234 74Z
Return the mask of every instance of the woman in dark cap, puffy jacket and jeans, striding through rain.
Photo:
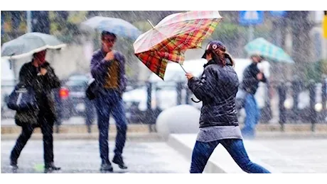
M237 121L235 96L239 81L234 64L220 41L208 44L203 58L208 60L199 79L186 74L188 87L203 101L200 115L200 131L193 148L190 173L202 173L210 155L218 144L223 144L232 159L243 171L252 174L268 174L267 169L250 161L242 141Z

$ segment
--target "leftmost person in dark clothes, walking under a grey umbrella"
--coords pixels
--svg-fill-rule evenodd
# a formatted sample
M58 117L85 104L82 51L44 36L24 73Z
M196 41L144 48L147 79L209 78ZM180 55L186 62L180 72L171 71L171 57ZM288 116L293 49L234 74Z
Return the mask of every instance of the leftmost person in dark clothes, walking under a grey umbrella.
M33 130L41 127L43 133L43 149L45 173L60 170L53 163L53 124L55 122L55 106L51 91L60 87L60 81L50 64L45 61L46 51L33 54L33 59L21 67L19 71L19 84L33 88L36 93L38 110L28 112L17 111L15 115L16 124L22 127L14 149L11 151L10 164L14 171L17 170L17 160L23 147L31 138Z

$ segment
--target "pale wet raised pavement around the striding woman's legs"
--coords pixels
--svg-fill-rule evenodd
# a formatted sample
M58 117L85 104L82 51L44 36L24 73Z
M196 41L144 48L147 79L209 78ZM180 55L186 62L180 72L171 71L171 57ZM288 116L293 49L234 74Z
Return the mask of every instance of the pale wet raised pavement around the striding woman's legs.
M171 134L168 145L191 160L196 134ZM327 139L245 139L250 159L274 175L326 175ZM242 175L237 163L219 145L205 167L208 175Z

